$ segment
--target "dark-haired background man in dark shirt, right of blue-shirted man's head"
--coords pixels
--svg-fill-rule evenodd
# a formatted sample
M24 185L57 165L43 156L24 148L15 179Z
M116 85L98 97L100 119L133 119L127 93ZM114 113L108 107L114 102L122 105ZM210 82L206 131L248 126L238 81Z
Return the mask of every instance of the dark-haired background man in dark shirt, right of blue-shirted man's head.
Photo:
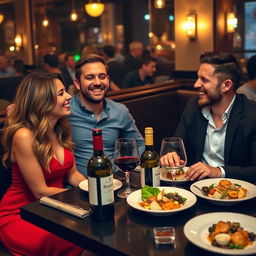
M146 55L141 59L140 68L129 72L123 81L122 89L153 84L153 75L156 71L156 59Z

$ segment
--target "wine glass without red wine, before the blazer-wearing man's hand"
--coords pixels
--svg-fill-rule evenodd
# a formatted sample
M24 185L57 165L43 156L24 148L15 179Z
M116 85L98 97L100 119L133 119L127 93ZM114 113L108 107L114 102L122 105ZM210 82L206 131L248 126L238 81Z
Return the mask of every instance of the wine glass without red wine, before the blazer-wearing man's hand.
M187 164L187 154L184 147L184 143L182 138L179 137L168 137L162 140L161 150L160 150L160 157L165 156L168 153L170 158L178 159L178 164L172 165L164 165L162 167L166 168L168 172L172 175L172 185L175 186L175 179L176 179L176 172L182 169Z

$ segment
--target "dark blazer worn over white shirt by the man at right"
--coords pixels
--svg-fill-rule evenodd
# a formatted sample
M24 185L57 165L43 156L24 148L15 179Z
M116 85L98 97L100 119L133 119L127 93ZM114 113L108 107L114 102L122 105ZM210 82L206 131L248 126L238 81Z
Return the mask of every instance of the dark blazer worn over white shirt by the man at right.
M226 177L256 182L256 102L236 95L225 137ZM198 107L197 98L187 103L175 136L182 137L188 166L201 161L208 120Z

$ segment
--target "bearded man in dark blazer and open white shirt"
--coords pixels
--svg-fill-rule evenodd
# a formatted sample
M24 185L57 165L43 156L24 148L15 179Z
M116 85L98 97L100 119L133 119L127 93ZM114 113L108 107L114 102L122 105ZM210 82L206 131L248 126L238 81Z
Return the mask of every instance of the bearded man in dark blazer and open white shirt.
M200 56L198 79L175 136L184 140L189 180L206 177L256 181L256 103L236 94L241 72L233 55ZM174 153L162 165L177 166Z

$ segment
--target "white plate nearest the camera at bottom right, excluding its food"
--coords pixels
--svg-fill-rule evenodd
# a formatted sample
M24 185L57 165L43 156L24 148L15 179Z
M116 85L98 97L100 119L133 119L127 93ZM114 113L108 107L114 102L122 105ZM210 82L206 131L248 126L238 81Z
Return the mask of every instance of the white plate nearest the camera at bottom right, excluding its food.
M216 212L199 215L190 219L184 226L184 234L191 243L208 251L232 255L256 254L256 241L245 249L239 250L212 246L210 241L207 239L209 234L208 228L220 220L240 222L241 226L244 227L245 230L256 232L255 217L233 212Z

